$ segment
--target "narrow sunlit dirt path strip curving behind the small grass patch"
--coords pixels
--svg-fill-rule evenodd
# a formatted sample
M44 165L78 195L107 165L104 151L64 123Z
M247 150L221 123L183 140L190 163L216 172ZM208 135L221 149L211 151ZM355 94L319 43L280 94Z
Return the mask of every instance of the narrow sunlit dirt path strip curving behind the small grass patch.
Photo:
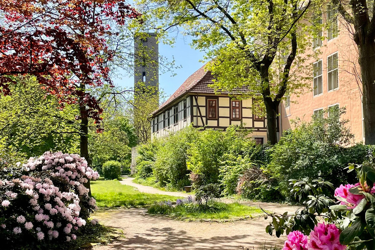
M164 195L171 195L171 196L181 196L181 197L187 197L190 194L183 193L183 192L168 192L168 191L162 191L160 189L157 189L155 187L149 187L149 186L143 186L140 184L133 183L134 178L124 178L122 181L120 181L121 184L136 187L140 192L144 193L155 193L155 194L164 194ZM232 202L239 202L241 204L247 205L247 206L253 206L253 207L260 207L267 211L272 211L274 213L284 213L288 211L288 213L293 213L298 207L295 206L288 206L285 204L278 204L278 203L266 203L266 202L248 202L248 201L241 201L241 200L234 200L234 199L220 199L222 202L225 203L232 203Z

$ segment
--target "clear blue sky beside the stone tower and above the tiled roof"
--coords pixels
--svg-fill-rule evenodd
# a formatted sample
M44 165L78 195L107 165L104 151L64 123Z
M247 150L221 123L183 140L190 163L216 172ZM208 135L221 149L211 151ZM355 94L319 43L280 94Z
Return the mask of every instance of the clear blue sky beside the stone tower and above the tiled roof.
M181 66L181 68L174 69L175 76L171 76L170 72L166 72L160 75L159 84L160 88L163 89L167 96L176 91L176 89L184 83L184 81L192 73L197 71L203 62L199 62L204 57L204 53L195 50L190 47L190 38L184 38L181 35L178 36L173 47L170 45L159 43L159 54L167 58L168 61L172 61L173 57L175 65ZM114 83L118 86L132 87L134 80L133 76L123 77L122 79L113 79Z

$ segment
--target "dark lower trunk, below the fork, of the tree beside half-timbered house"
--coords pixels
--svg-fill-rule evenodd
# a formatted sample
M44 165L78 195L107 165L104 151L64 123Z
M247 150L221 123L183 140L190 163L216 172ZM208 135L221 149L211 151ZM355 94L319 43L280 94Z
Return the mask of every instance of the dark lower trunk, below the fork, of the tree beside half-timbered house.
M263 96L267 113L267 142L271 145L277 144L277 105L270 97Z

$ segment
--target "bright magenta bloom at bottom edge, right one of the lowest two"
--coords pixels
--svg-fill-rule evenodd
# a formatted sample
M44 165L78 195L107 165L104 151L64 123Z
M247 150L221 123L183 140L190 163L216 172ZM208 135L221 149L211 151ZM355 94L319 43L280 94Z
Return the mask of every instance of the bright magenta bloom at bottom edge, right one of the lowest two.
M340 230L334 224L318 223L310 234L309 250L345 250L340 244Z

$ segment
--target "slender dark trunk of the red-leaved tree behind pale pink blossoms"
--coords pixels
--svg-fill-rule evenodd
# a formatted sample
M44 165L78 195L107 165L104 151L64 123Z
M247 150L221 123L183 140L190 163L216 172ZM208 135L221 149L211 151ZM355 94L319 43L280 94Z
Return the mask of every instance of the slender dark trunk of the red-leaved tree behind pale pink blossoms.
M84 85L81 84L81 87L84 88ZM81 99L81 98L80 98ZM84 157L87 161L87 166L91 165L90 157L88 154L88 117L85 104L80 100L80 115L81 115L81 124L80 124L80 154L81 157ZM88 188L88 195L91 196L90 180L87 180L87 183L84 184L84 187Z

